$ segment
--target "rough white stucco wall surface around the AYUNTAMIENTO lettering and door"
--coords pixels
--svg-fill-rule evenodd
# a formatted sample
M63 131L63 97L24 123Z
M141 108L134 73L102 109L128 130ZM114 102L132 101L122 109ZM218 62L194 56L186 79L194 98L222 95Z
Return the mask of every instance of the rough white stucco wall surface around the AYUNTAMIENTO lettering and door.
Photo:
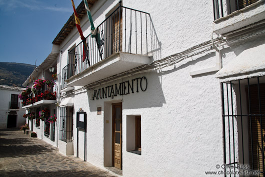
M107 1L95 14L91 8L95 24L101 23L105 14L117 4L118 1ZM123 1L123 6L150 13L148 29L153 43L148 44L153 46L148 46L152 49L148 54L153 60L211 38L212 1ZM90 28L86 16L81 20L81 27L87 36ZM262 37L264 35L219 48L222 66L228 65L242 51L265 44ZM61 68L67 65L67 50L79 42L74 28L60 45ZM214 72L190 76L191 71L215 64L215 50L212 49L205 55L187 58L161 70L71 93L74 97L74 155L78 153L84 159L85 151L88 162L102 168L111 166L111 103L122 102L123 176L205 176L205 171L216 171L215 165L223 163L220 80L215 78ZM148 82L144 92L92 100L96 89L142 76ZM75 90L79 88L75 86ZM97 107L101 107L101 115L97 115ZM76 112L79 108L87 113L87 132L84 149L84 131L79 131L77 152ZM141 155L126 151L129 137L126 118L130 115L141 116Z

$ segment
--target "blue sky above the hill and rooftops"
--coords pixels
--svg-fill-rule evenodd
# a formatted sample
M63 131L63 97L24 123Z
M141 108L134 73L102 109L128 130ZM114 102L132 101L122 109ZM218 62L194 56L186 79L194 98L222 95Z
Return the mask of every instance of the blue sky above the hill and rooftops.
M42 63L72 13L70 0L0 0L0 62Z

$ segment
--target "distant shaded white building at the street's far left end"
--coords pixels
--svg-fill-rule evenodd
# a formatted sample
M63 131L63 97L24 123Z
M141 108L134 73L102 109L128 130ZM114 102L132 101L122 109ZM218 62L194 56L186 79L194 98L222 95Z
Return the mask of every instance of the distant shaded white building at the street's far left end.
M0 85L0 128L19 127L25 124L25 110L18 95L25 90L20 87Z

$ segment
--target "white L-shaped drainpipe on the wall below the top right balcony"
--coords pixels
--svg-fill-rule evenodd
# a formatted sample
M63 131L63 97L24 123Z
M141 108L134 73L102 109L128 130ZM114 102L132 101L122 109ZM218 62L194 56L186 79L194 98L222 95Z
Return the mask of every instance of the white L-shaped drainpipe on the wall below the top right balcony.
M221 66L222 66L222 64L221 64L221 51L219 51L218 48L214 44L213 32L211 33L211 44L212 44L213 49L215 49L215 60L216 60L215 66L211 67L211 68L202 69L202 70L192 71L189 73L190 76L196 76L196 75L205 74L205 73L217 72L221 69Z

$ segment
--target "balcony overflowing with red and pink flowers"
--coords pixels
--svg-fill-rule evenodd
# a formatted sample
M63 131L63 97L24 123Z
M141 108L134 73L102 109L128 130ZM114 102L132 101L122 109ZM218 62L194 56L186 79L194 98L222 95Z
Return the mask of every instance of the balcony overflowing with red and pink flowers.
M37 82L38 81L38 82ZM27 88L22 92L22 108L31 108L41 105L56 103L56 92L53 91L54 83L48 80L38 79L35 81L32 93L31 88Z

